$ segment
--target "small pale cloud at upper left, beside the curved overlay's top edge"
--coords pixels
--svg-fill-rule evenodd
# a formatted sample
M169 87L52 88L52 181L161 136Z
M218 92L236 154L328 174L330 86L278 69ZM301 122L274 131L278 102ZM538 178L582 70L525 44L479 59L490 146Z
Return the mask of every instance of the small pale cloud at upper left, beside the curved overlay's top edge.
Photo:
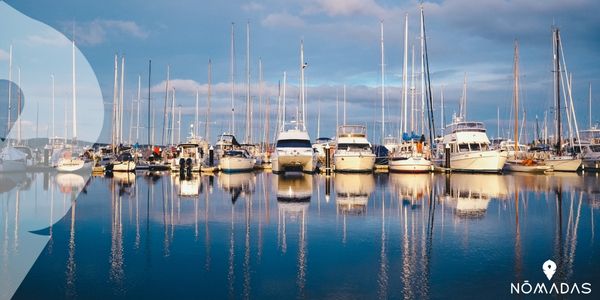
M72 24L65 23L65 31L71 32ZM149 33L134 21L96 19L75 24L75 40L79 44L98 45L109 37L127 36L146 39Z

